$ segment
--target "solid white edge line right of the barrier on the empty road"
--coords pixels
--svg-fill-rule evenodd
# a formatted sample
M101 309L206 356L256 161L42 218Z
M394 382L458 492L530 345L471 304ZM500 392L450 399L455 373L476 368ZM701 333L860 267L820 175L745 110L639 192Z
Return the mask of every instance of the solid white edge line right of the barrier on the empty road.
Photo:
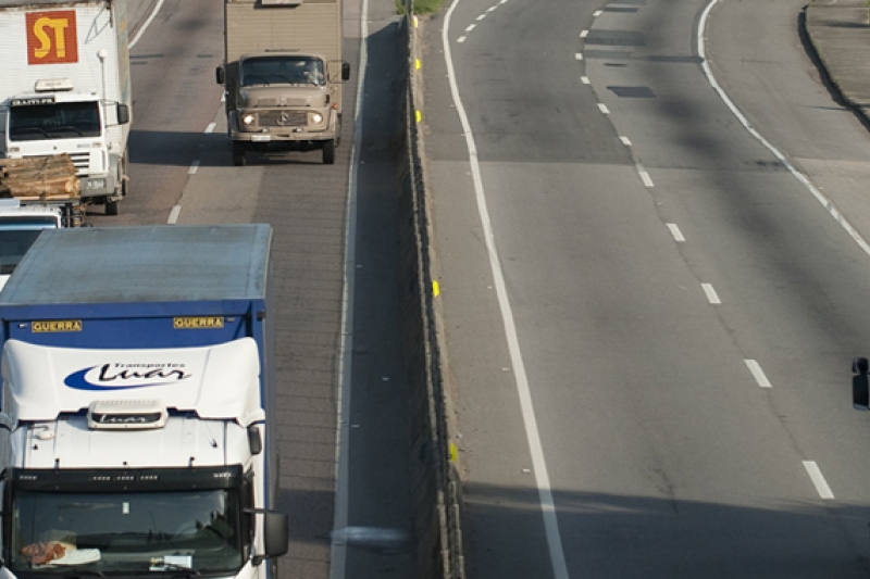
M540 504L540 513L544 518L544 531L547 538L547 545L549 547L550 565L552 567L552 575L555 579L569 579L568 565L564 561L564 550L562 549L562 537L559 532L559 520L556 514L556 503L552 498L552 488L550 486L550 477L547 471L547 462L544 457L544 444L540 441L540 432L537 428L537 419L535 417L535 408L532 403L532 389L529 385L529 377L525 373L525 364L523 362L522 350L520 349L520 340L517 335L517 325L513 319L513 311L510 307L510 300L508 298L508 290L505 282L505 274L501 270L501 260L498 256L498 249L496 248L495 235L493 232L493 224L489 219L489 210L486 205L486 194L483 188L483 178L481 176L481 165L477 161L477 144L474 141L474 134L471 129L465 106L459 96L459 87L456 83L456 71L453 68L452 49L448 41L448 33L450 30L450 18L452 17L456 7L460 4L460 0L456 0L450 4L447 11L444 28L442 29L442 45L444 46L444 60L447 65L447 76L450 84L450 92L456 104L459 121L462 124L462 129L465 134L465 144L469 149L469 165L471 167L472 181L474 182L474 197L477 201L477 213L480 214L481 225L484 232L484 241L486 243L486 251L489 255L489 267L492 269L493 281L496 289L496 297L498 300L499 309L501 310L501 318L505 325L505 337L508 341L508 352L510 354L511 366L513 367L513 379L517 383L517 393L520 397L520 408L522 411L523 425L525 426L525 437L529 442L529 452L532 456L532 465L534 467L535 483L537 484L538 501ZM363 36L364 38L364 36Z

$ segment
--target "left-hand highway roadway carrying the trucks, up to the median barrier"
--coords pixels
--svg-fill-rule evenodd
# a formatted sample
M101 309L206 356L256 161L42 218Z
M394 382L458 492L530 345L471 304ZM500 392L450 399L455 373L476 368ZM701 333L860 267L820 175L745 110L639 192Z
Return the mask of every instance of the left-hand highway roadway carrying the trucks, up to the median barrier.
M279 576L410 577L399 193L389 148L402 71L395 9L345 3L352 73L335 165L323 165L315 151L252 155L245 167L232 165L223 88L215 83L223 59L220 3L148 0L128 10L130 193L120 215L97 206L89 223L273 226L277 508L290 518ZM358 96L363 10L372 63ZM366 529L406 540L384 549L368 540Z

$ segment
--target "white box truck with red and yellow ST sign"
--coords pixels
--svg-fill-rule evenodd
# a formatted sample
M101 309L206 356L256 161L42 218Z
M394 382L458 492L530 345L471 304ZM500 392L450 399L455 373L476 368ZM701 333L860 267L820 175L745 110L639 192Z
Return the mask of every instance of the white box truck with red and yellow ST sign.
M130 121L126 0L0 0L0 158L67 153L117 214Z

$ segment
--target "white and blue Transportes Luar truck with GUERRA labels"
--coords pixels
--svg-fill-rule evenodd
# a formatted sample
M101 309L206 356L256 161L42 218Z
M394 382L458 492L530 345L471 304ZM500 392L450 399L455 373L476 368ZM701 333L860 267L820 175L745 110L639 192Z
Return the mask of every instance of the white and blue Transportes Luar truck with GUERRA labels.
M271 239L40 234L0 291L0 576L276 579Z

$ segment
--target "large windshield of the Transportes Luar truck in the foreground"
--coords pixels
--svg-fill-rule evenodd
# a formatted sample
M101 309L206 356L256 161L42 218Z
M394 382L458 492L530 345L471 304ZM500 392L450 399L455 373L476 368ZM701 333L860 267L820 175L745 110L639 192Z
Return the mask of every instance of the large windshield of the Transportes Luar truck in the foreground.
M15 575L235 575L238 489L12 495L7 565Z

